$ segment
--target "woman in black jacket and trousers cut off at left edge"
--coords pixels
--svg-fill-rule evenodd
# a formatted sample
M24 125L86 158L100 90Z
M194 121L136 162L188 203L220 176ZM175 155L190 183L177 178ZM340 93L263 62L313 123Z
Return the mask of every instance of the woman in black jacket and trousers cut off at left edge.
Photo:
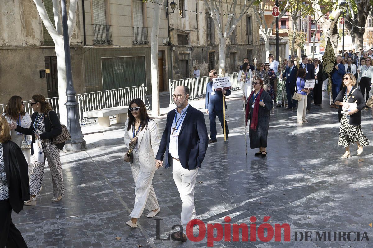
M21 148L10 141L9 124L0 116L0 248L27 248L12 221L12 210L23 209L29 198L28 164Z

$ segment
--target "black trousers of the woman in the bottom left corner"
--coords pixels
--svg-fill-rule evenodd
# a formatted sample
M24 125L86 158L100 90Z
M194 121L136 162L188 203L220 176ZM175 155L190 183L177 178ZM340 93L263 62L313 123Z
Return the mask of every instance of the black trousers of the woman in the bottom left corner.
M27 248L21 232L12 221L9 200L0 201L0 248Z

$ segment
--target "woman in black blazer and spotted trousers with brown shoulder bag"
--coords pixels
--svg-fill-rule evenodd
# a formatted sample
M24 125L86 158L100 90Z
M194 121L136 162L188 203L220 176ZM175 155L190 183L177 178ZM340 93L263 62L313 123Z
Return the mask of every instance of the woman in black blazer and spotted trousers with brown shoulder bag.
M58 202L65 195L65 185L63 183L60 161L60 150L65 146L65 142L60 144L53 143L53 138L57 137L62 132L62 128L57 113L52 111L45 97L40 94L35 94L31 98L30 105L32 110L34 110L31 116L31 126L29 126L29 128L23 128L13 122L10 128L14 128L15 131L26 135L32 135L32 144L38 139L43 148L44 162L39 163L35 156L32 157L30 199L25 201L25 205L35 206L36 195L41 190L41 183L44 178L46 158L52 176L53 197L51 202ZM31 146L31 155L32 154L34 154L33 145Z

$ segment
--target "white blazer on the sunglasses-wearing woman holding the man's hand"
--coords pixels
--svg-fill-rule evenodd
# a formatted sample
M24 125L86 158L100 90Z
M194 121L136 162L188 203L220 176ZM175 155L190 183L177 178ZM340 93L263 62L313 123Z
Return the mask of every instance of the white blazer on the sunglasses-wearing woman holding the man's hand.
M129 142L133 138L133 127L131 127L129 131L127 130L127 127L128 119L125 124L124 144L129 147ZM140 166L147 168L149 171L156 170L156 155L160 144L157 123L154 120L149 120L147 128L142 129L137 137L137 153L139 155Z

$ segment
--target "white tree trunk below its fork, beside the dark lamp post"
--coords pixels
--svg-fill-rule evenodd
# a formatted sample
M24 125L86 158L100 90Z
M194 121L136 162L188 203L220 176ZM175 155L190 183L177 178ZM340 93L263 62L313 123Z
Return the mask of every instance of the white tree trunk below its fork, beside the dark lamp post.
M65 66L65 47L63 36L54 37L54 49L57 58L57 81L58 81L58 100L59 100L59 113L60 122L67 125L68 117L65 103L66 98L66 66Z

